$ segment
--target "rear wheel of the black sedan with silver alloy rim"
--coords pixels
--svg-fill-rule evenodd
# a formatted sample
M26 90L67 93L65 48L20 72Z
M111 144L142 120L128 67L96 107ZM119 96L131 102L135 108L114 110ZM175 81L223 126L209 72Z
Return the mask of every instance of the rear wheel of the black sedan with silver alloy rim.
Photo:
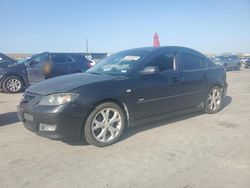
M222 91L218 86L212 87L205 99L204 111L208 114L215 114L221 110L222 106Z

